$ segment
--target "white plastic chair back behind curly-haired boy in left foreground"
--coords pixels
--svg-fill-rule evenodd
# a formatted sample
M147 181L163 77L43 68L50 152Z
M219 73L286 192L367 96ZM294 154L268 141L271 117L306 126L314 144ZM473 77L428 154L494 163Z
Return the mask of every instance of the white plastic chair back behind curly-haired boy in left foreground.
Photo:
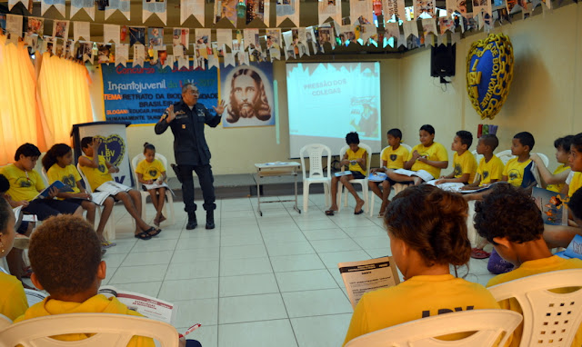
M65 342L50 336L90 332L95 335L81 342ZM17 322L0 331L3 346L24 347L125 347L133 336L151 337L164 347L178 346L176 328L145 317L111 313L55 314Z

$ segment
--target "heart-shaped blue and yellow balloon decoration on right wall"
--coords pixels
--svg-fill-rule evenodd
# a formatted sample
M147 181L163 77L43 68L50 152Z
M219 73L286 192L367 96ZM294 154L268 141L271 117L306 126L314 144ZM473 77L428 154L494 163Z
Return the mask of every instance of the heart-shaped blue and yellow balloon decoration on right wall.
M481 119L493 119L513 79L513 45L503 34L474 42L467 54L467 93Z

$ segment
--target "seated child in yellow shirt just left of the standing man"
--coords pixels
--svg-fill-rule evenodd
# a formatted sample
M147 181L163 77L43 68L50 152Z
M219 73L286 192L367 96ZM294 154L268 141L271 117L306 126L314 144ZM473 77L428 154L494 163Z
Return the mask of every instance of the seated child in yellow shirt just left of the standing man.
M166 180L166 168L162 162L156 159L156 147L154 144L144 144L144 155L146 156L146 159L139 162L135 168L135 173L137 173L137 180L139 183L164 183L164 180ZM142 188L145 191L147 190L144 185L142 185ZM154 224L160 226L160 223L166 221L166 217L162 214L162 209L164 208L164 202L166 200L166 187L149 189L147 192L152 197L152 203L154 203L154 207L156 207L156 218L154 218Z

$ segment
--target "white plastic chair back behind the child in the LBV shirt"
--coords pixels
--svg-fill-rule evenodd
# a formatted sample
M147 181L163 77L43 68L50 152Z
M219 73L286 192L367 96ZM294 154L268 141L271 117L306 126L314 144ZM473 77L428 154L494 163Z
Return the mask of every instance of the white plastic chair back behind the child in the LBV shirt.
M470 310L439 314L405 322L358 336L346 347L446 347L504 346L521 322L521 314L509 310ZM435 337L456 332L475 332L461 340L444 341Z

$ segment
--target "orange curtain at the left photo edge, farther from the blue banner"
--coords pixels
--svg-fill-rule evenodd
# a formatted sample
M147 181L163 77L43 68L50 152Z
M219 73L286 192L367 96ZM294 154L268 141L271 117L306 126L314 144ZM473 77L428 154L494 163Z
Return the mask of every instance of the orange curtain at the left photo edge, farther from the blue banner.
M35 68L24 43L8 44L0 35L0 165L14 162L21 144L46 150L35 93Z

